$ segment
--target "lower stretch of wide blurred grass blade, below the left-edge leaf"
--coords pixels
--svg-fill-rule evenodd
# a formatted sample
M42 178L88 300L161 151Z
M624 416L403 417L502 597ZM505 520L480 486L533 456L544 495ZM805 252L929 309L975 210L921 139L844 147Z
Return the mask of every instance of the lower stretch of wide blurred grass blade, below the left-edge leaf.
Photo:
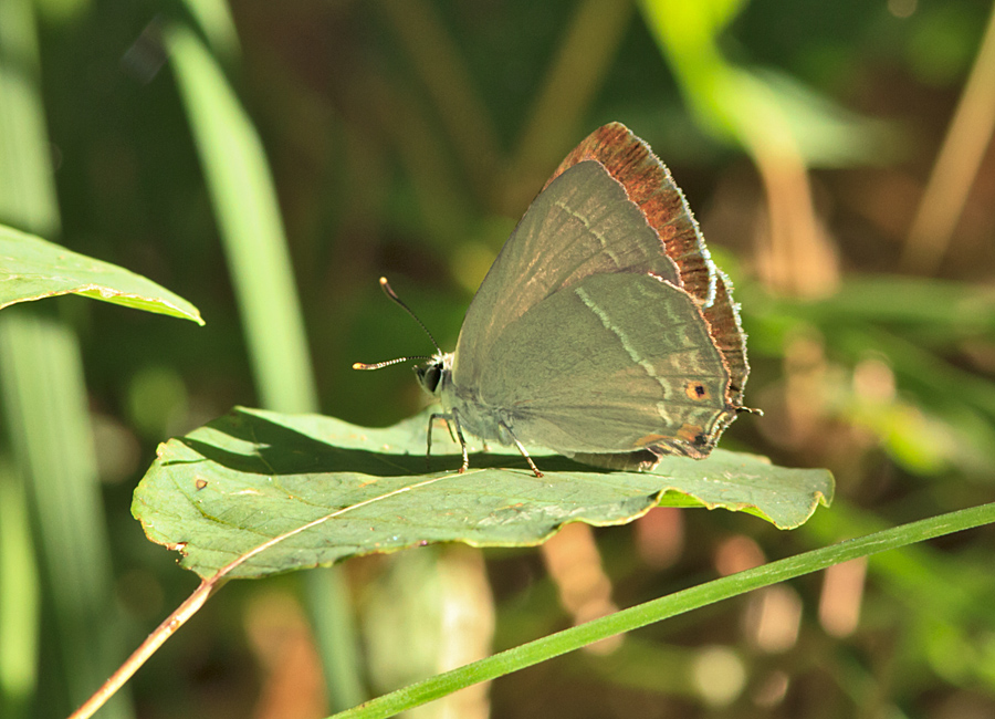
M0 392L13 455L31 486L63 700L75 706L117 663L123 639L75 335L35 308L3 311ZM126 696L107 716L132 716Z

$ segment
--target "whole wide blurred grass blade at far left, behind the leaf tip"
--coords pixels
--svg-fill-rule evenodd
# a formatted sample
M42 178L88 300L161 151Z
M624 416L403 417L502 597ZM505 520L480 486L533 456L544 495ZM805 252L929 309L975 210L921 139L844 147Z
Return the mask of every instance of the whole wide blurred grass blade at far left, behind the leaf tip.
M39 75L33 3L0 2L0 222L52 237L59 207ZM78 343L52 316L53 303L44 304L0 312L0 410L28 483L34 545L43 559L52 628L42 625L41 640L57 644L51 654L59 670L40 677L33 709L62 711L66 702L82 702L117 664L122 637ZM29 585L32 576L22 575L18 585ZM0 642L11 636L4 633ZM38 657L22 661L35 664ZM125 695L106 713L132 715Z

